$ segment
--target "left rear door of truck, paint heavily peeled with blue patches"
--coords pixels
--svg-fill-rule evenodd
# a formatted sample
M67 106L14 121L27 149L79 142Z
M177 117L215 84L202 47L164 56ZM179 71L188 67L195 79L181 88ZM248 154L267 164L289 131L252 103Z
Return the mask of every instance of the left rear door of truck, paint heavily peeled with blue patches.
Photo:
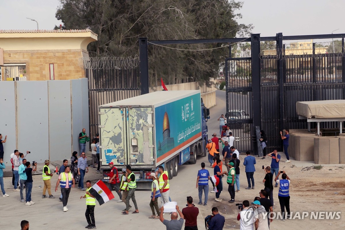
M101 108L100 114L100 158L101 166L114 162L115 166L126 165L126 109Z

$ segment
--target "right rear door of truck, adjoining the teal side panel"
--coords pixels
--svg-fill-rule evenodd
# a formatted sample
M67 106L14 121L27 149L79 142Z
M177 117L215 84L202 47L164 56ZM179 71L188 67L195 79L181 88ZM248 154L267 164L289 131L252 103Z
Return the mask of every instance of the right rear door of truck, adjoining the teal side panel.
M152 108L127 108L128 163L154 165Z

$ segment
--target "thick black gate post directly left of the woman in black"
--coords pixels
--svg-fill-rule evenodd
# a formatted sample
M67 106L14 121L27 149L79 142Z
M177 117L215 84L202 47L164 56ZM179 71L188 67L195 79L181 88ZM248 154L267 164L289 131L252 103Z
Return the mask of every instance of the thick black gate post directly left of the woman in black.
M258 153L259 157L263 156L259 138L256 135L256 129L261 127L261 97L260 97L260 34L252 34L252 101L253 101L253 128L256 136L256 144L254 143L254 154ZM260 128L259 128L260 129Z

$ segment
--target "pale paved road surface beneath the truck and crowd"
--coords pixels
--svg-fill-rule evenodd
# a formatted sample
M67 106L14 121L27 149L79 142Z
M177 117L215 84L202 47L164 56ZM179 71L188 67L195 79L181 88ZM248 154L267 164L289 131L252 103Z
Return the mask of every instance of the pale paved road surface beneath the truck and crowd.
M219 132L219 123L217 118L218 114L225 111L225 92L217 91L217 105L210 109L211 119L208 121L209 135L214 131ZM241 162L243 162L243 156L240 156ZM200 163L207 162L207 157L198 158L196 164L185 164L179 168L177 177L174 177L170 181L170 197L173 201L176 201L180 208L184 208L186 205L186 197L192 196L195 203L198 203L198 190L195 188L197 171L200 169ZM267 163L267 162L266 162ZM260 166L257 166L259 170ZM210 174L213 174L213 169L207 168ZM262 179L264 177L263 172L257 172L254 177L257 182L255 190L245 190L247 187L244 173L244 166L242 165L240 174L241 192L236 194L235 201L242 202L244 199L253 200L258 195L260 189L263 188ZM86 174L85 180L91 179L92 183L100 179L100 174L97 174L95 170L90 168L90 172ZM33 176L33 191L32 200L35 204L31 206L25 206L20 202L19 192L14 192L11 186L11 178L4 178L4 185L6 192L10 197L0 197L1 203L1 227L6 230L18 230L20 228L21 220L28 220L30 222L31 229L84 229L87 226L85 219L86 204L85 199L80 200L80 196L84 192L77 188L72 189L70 198L68 201L69 211L62 211L62 203L59 202L60 192L53 191L57 181L57 175L54 174L52 179L52 194L57 197L56 199L42 199L43 186L42 176ZM226 218L226 224L224 229L237 228L239 229L239 222L236 217L238 209L235 204L229 204L230 195L227 192L227 184L225 178L223 178L225 190L221 193L220 198L224 199L223 202L215 202L215 194L209 193L208 206L198 206L200 214L198 216L198 228L204 229L204 218L211 214L212 207L216 206ZM211 184L210 184L211 185ZM154 219L148 219L152 214L149 207L151 192L148 190L136 191L136 199L139 207L139 214L122 215L121 210L125 208L124 203L117 203L117 194L114 192L115 199L111 200L102 206L97 204L95 208L96 226L98 229L108 228L126 228L126 229L165 229L165 226L159 221ZM133 205L132 205L133 206ZM133 210L131 210L133 211ZM170 215L164 215L164 218L170 219ZM271 226L274 226L274 222Z

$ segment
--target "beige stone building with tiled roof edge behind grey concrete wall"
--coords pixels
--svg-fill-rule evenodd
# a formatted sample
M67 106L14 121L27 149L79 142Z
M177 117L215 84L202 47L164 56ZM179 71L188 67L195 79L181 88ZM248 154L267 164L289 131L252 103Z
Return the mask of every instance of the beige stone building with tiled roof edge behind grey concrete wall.
M85 77L79 63L97 41L91 30L0 30L0 80Z

